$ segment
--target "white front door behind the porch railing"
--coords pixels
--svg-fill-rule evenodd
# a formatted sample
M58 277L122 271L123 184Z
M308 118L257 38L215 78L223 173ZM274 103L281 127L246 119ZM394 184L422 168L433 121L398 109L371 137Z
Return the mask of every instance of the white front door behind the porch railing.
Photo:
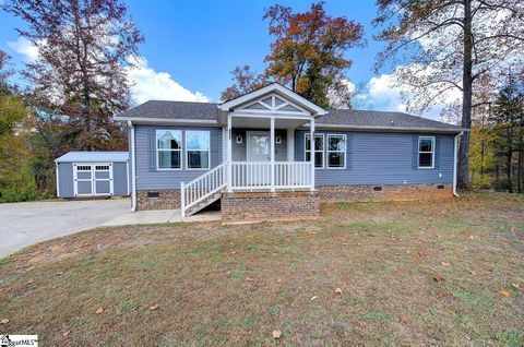
M271 183L270 132L248 131L246 137L247 159L254 161L248 166L246 181L248 186L267 186Z

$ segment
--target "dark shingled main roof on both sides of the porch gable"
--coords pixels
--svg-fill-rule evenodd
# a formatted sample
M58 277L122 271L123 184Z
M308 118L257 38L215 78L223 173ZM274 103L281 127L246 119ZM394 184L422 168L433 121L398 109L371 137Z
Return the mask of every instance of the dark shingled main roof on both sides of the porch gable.
M152 100L115 116L115 120L142 123L218 124L221 104ZM380 131L440 131L458 133L463 129L403 112L329 109L317 117L319 128Z

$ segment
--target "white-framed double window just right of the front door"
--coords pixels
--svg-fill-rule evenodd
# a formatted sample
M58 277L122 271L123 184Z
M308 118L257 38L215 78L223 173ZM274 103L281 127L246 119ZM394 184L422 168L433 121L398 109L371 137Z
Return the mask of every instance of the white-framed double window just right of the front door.
M306 134L306 161L311 160L311 135ZM341 169L346 167L346 135L327 134L324 143L323 134L314 135L314 167L329 169ZM327 163L324 165L324 152L327 154Z

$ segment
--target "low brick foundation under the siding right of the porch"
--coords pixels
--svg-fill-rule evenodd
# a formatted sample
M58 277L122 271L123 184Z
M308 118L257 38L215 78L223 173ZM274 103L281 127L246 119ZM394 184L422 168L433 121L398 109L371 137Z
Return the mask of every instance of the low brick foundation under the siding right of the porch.
M376 191L376 187L381 187ZM443 187L443 189L439 189ZM453 196L452 184L377 184L319 187L322 203L366 201L414 201Z

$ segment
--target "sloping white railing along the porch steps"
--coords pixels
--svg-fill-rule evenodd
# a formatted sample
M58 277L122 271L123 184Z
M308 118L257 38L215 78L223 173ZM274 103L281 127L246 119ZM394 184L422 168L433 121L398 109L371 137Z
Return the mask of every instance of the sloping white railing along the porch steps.
M227 163L223 163L188 183L180 183L182 217L189 208L226 187L226 168Z

